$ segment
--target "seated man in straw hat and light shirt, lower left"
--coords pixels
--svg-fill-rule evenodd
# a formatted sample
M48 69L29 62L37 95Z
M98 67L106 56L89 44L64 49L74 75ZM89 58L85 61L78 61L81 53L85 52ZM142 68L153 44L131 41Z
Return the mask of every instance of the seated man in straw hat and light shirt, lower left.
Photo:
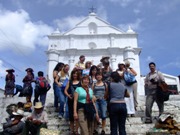
M23 135L31 132L32 135L39 135L41 128L47 128L47 113L43 111L41 102L36 102L31 116L27 117Z

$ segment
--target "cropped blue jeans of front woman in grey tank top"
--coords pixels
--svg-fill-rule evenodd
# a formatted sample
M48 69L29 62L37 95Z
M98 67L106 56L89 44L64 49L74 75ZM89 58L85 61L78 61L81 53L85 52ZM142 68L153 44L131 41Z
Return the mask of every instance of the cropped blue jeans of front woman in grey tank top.
M98 110L99 116L102 118L102 120L105 120L107 115L107 102L104 99L98 99L96 101L96 108Z

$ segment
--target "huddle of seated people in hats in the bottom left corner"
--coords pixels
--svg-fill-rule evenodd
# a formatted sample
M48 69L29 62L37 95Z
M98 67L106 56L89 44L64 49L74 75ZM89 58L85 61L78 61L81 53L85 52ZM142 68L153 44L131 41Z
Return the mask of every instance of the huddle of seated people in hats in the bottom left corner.
M41 128L47 128L48 116L41 102L36 102L32 113L26 113L24 104L18 103L17 109L6 118L0 135L40 135Z

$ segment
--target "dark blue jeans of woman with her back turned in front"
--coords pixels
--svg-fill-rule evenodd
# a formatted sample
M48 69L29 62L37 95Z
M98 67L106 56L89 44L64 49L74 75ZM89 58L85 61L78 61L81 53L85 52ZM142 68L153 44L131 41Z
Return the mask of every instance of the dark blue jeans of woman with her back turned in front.
M126 135L126 103L110 103L110 129L111 135ZM119 126L119 129L118 129Z

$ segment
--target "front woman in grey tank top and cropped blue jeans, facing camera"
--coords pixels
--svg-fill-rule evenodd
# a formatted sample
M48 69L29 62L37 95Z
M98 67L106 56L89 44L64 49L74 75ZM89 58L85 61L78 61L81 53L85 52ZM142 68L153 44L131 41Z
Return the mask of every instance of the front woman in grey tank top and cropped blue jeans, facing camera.
M106 127L106 113L107 113L107 101L105 98L105 93L108 90L107 84L102 81L102 73L96 73L97 82L93 84L93 92L96 97L96 108L99 112L99 116L102 118L102 131L101 135L105 135L105 127ZM97 125L97 121L95 121L95 125ZM95 126L96 128L96 126ZM97 133L95 130L94 133Z

